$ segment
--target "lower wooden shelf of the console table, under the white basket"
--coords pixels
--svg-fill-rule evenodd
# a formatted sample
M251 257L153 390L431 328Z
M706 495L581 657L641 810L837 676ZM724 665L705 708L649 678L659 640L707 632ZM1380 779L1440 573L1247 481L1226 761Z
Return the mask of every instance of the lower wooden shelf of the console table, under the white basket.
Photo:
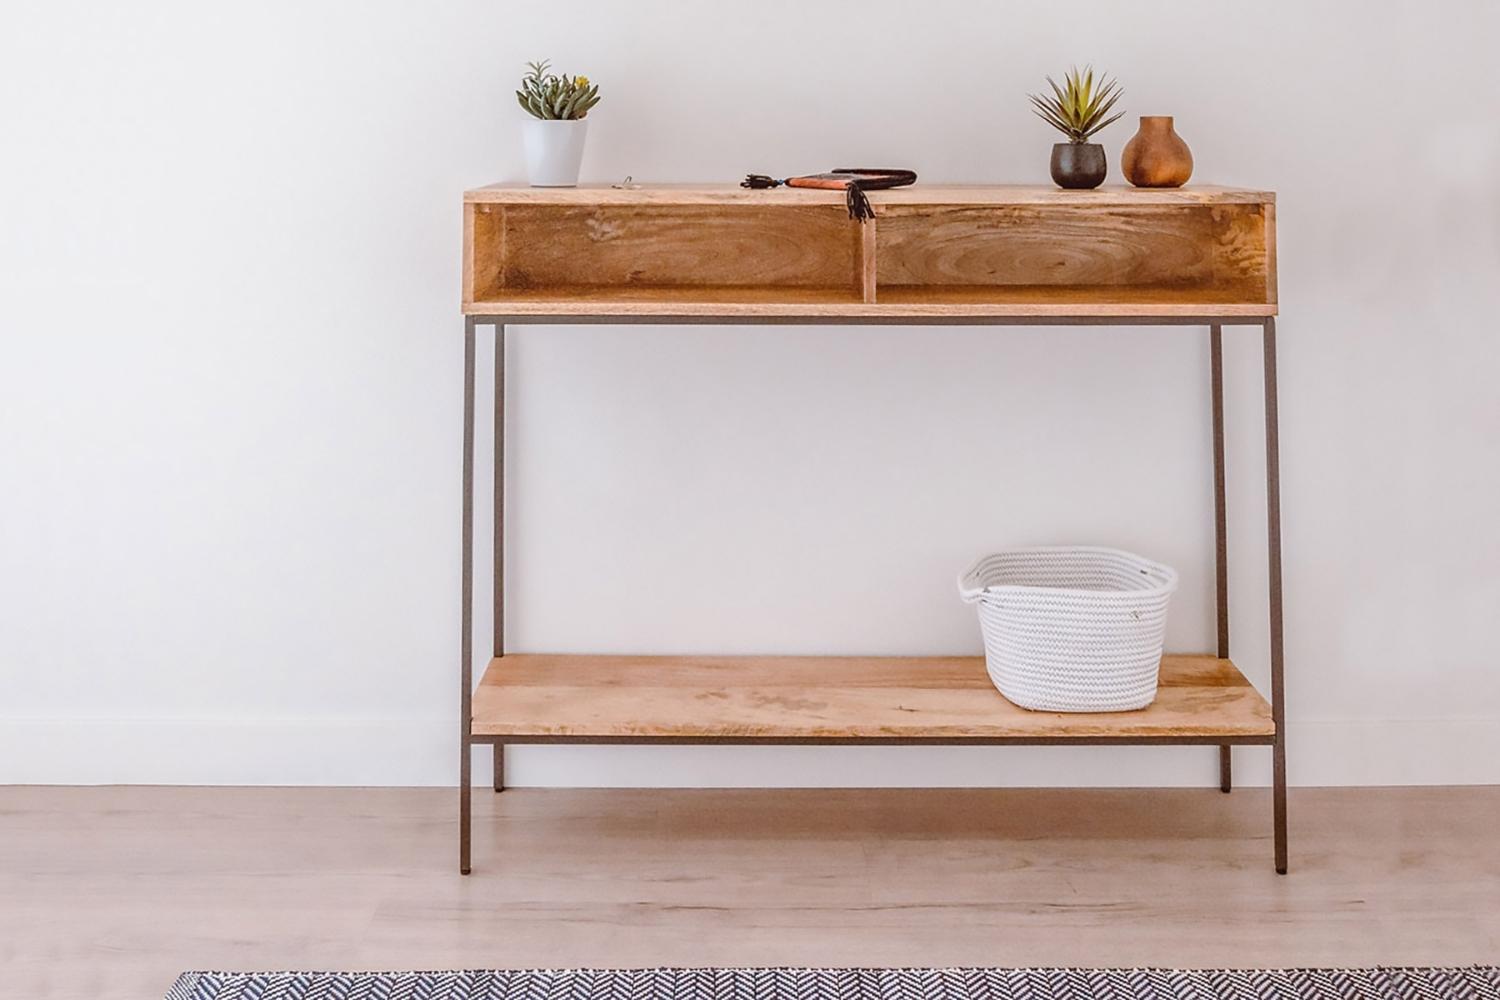
M474 693L480 742L1270 744L1270 706L1228 660L1167 655L1137 712L1028 712L980 657L512 654Z

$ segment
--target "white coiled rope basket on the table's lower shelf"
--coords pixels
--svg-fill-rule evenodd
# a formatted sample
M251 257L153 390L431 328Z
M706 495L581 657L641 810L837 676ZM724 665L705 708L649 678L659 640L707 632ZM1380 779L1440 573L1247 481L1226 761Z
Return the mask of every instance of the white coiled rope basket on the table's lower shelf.
M958 577L994 687L1041 712L1150 705L1176 589L1170 567L1088 546L999 552Z

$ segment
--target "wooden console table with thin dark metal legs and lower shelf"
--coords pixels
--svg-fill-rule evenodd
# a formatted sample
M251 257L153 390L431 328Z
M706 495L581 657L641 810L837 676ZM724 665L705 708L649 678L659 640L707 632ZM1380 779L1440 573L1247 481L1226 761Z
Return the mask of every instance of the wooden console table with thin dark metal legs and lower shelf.
M1197 744L1270 747L1275 868L1287 870L1275 196L915 186L872 195L734 186L532 189L464 196L464 519L459 870L470 871L471 750L490 744ZM1149 708L1028 712L982 657L506 654L507 324L969 324L1208 327L1216 649L1167 655ZM492 658L472 678L474 340L495 328ZM1230 660L1222 328L1264 351L1270 702Z

